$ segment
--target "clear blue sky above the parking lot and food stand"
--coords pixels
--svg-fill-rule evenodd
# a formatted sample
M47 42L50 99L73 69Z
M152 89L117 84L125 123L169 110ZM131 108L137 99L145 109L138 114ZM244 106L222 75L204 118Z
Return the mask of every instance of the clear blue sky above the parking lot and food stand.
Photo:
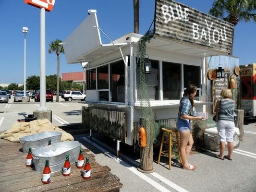
M201 12L208 12L213 0L178 0ZM86 18L88 9L96 9L99 27L115 40L133 32L133 0L55 0L52 12L46 12L46 75L57 74L56 54L49 54L49 43L64 40ZM155 0L140 0L140 34L154 19ZM26 76L40 74L40 10L24 0L0 0L0 83L23 83L24 34L26 35ZM235 27L233 55L240 64L256 62L256 23ZM102 36L103 37L103 36ZM103 43L109 43L103 38ZM60 72L82 71L80 64L67 64L61 54Z

